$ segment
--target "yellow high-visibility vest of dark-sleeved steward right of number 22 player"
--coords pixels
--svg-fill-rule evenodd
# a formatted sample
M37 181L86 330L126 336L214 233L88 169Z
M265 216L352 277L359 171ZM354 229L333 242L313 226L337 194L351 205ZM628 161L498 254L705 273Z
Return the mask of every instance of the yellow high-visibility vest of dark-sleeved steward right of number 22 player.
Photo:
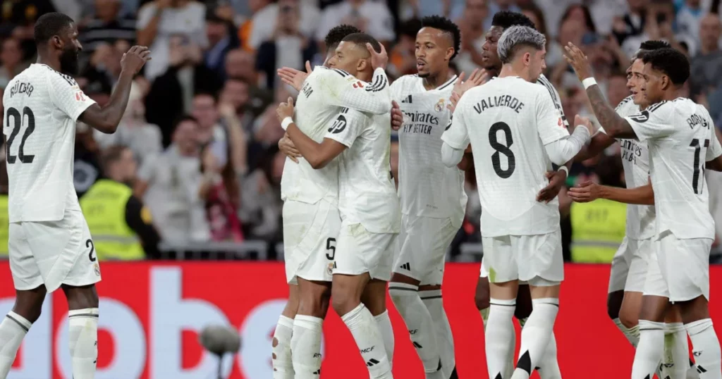
M132 194L128 186L102 179L95 182L80 199L98 258L145 258L136 233L126 223L126 204Z

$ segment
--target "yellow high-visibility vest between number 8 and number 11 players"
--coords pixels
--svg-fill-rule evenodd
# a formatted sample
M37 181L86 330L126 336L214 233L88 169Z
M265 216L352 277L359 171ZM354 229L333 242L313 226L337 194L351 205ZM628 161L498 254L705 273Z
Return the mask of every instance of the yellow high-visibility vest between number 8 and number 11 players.
M611 263L625 238L627 204L606 199L573 203L572 261Z

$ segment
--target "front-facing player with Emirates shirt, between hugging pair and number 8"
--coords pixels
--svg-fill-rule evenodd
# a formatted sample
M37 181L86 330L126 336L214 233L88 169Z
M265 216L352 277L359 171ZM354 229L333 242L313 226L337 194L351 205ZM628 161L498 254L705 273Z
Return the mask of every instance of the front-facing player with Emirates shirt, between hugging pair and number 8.
M391 84L391 99L400 104L406 123L399 128L401 233L388 292L427 378L456 378L441 282L446 249L464 220L466 192L464 172L441 162L441 134L459 80L450 75L449 63L460 45L461 32L451 20L424 17L416 37L419 73Z

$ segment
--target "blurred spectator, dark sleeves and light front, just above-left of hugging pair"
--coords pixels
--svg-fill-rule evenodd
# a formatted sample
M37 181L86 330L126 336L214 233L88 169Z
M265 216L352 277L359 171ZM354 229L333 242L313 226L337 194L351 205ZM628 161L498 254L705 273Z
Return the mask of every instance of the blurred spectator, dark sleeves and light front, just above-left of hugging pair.
M273 89L277 80L276 70L281 67L304 69L305 61L316 55L316 43L299 29L300 9L290 2L280 7L276 30L264 40L256 51L256 70L266 77L266 88Z

